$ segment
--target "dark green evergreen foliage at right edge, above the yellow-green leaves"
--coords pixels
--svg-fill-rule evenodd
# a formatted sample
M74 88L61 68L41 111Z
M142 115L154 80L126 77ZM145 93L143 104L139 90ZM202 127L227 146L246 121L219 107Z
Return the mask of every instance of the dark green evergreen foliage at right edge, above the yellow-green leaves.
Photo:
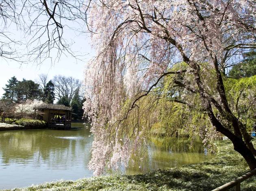
M228 74L230 77L238 79L256 75L256 51L246 52L243 56L243 61L230 70Z

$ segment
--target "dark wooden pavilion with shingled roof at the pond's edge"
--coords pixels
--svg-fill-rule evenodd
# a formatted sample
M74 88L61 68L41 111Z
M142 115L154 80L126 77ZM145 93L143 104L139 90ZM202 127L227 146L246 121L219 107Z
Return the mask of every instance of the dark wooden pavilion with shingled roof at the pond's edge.
M72 108L62 104L41 104L34 108L37 119L47 121L49 128L70 129Z

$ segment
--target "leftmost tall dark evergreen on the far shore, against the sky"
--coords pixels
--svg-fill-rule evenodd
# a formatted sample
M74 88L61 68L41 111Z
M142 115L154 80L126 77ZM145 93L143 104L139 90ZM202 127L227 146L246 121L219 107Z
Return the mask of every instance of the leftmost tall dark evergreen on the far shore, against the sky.
M11 77L11 79L8 80L8 84L6 84L4 89L4 94L3 94L3 98L4 99L8 99L11 101L15 101L16 100L16 85L17 85L18 81L16 79L15 76Z

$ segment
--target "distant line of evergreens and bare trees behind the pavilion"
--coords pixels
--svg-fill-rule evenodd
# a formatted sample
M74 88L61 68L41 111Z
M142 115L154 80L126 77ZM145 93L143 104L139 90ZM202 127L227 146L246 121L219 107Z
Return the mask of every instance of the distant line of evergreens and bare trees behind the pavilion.
M80 95L81 82L73 77L54 76L48 80L46 74L40 74L39 80L17 80L11 77L5 85L0 103L0 110L8 110L11 105L22 104L29 100L40 100L45 103L64 104L73 108L73 119L81 120L83 116L82 105L85 99Z

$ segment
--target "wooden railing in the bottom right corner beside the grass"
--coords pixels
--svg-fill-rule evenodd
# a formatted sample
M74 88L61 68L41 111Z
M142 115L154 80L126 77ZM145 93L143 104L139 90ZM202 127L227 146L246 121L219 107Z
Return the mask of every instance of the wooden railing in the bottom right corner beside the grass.
M225 185L217 187L216 189L214 189L212 191L225 191L225 190L228 190L228 189L233 188L233 187L235 187L235 191L240 191L241 182L243 182L244 180L246 180L246 179L248 179L248 178L250 178L251 176L254 176L254 175L256 175L256 169L254 169L250 172L247 172L243 176L240 176L239 178L236 178L236 179L232 180L231 182L226 183Z

